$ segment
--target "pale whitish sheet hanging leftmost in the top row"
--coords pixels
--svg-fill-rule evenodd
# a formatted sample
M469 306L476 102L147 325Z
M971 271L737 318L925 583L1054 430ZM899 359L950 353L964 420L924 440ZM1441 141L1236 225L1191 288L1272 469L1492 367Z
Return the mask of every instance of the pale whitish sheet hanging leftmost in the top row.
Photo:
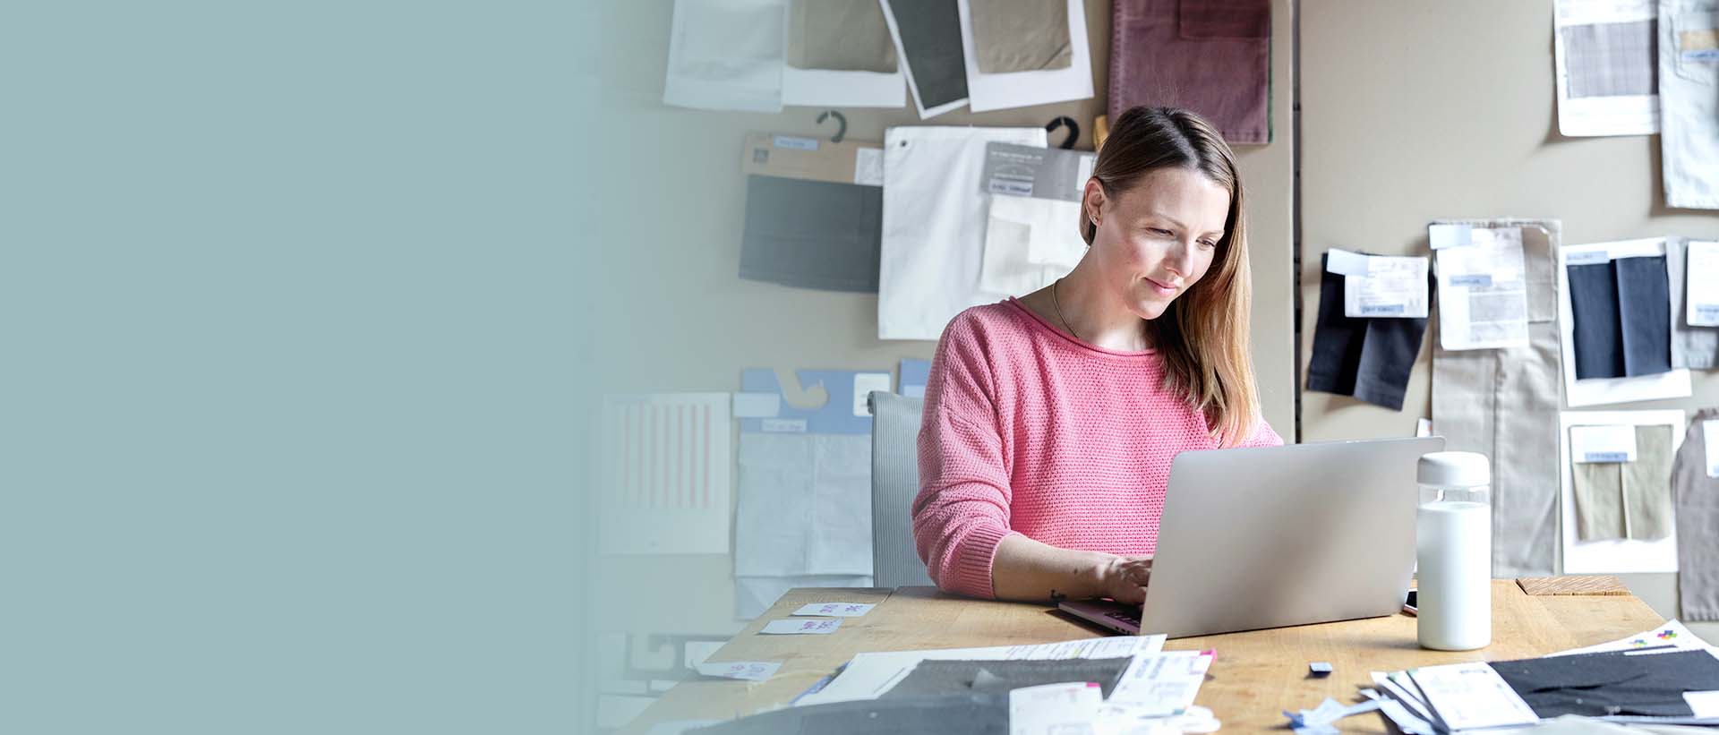
M665 105L782 112L787 0L676 0Z

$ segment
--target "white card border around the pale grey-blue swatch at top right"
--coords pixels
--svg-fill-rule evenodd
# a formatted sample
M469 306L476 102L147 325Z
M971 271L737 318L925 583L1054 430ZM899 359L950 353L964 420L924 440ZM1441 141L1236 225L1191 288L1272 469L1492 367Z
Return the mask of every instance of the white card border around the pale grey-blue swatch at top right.
M1652 136L1659 132L1659 94L1571 96L1571 65L1564 31L1576 26L1654 21L1652 0L1556 0L1552 14L1552 67L1557 91L1557 131L1564 136ZM1638 60L1654 74L1659 58ZM1576 60L1578 64L1581 60Z

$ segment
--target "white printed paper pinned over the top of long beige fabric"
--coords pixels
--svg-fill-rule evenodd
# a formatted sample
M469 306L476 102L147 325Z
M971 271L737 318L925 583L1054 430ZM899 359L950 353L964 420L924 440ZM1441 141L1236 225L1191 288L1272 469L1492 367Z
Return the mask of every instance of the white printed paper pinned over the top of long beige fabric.
M1441 227L1458 225L1428 230ZM1528 347L1521 228L1461 227L1465 244L1439 251L1439 345L1446 350Z

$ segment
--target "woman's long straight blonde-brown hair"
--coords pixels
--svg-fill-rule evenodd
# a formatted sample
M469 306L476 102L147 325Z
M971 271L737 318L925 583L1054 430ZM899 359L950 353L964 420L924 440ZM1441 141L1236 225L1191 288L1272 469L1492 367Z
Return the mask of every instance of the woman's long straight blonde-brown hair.
M1253 280L1236 155L1224 136L1193 112L1129 108L1110 127L1092 175L1104 194L1114 197L1153 168L1196 170L1229 189L1229 215L1212 268L1172 301L1164 316L1148 321L1147 330L1164 355L1165 385L1205 416L1222 446L1236 446L1260 424L1260 395L1248 350ZM1092 216L1081 211L1081 237L1092 246L1095 235Z

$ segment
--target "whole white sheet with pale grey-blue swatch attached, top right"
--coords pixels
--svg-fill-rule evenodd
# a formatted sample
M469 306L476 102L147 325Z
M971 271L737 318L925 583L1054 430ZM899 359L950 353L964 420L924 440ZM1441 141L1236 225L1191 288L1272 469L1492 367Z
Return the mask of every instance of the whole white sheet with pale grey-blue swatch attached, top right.
M1652 0L1556 0L1552 64L1564 136L1659 132Z

